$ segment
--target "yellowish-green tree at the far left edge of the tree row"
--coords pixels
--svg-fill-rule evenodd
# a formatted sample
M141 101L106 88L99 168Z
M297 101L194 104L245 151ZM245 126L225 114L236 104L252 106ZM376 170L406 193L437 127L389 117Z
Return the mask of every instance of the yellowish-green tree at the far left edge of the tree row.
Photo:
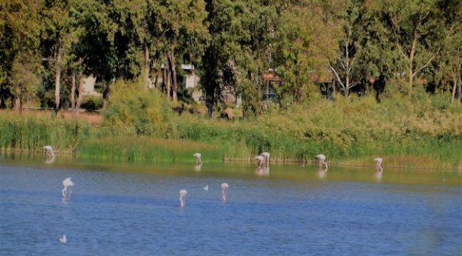
M33 100L38 86L41 58L38 54L41 1L11 0L0 4L1 91L14 97L21 111L23 100ZM4 98L4 95L2 95Z

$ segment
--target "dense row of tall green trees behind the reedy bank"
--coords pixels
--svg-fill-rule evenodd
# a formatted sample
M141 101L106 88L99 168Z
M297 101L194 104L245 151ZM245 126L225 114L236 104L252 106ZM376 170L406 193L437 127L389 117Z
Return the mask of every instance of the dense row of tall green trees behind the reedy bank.
M268 70L283 107L326 81L328 94L461 98L458 0L9 0L0 14L3 108L78 108L86 75L105 100L114 81L162 77L157 89L175 101L182 63L200 73L209 115L223 90L259 114Z

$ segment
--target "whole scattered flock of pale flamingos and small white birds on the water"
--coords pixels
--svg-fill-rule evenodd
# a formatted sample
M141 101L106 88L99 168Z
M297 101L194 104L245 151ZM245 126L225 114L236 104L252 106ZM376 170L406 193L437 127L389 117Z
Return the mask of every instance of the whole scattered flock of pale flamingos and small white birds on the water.
M45 149L47 151L47 159L46 159L46 163L52 163L54 160L55 160L55 153L53 151L53 147L52 146L43 146L43 149ZM200 153L195 153L193 154L193 156L195 157L195 170L200 170L200 166L202 166L202 161L200 159L200 156L201 154ZM269 170L269 152L263 152L262 154L259 154L258 156L255 156L255 164L257 165L257 168L258 169L267 169ZM316 158L319 160L318 161L318 165L320 167L320 171L322 171L323 175L326 174L327 172L327 169L328 169L328 165L327 165L327 162L326 162L326 156L323 155L323 154L318 154L316 155ZM383 168L382 168L382 161L383 159L380 158L380 157L377 157L374 159L374 161L376 162L375 164L375 167L377 169L377 175L379 175L380 177L382 176L382 171L383 171ZM326 165L326 170L323 170L322 169L322 166ZM71 190L71 187L74 186L74 183L71 181L71 177L68 177L68 178L65 178L64 181L63 181L63 191L61 191L61 193L63 194L63 199L69 199L70 198L70 194L72 193L72 190ZM221 188L222 188L222 197L221 197L221 201L222 203L226 203L226 199L227 199L227 189L229 188L229 185L228 183L222 183L221 184ZM208 191L208 185L207 186L204 186L203 189L205 191ZM183 209L185 208L186 206L186 195L188 195L188 191L186 191L186 189L181 189L180 190L180 208ZM59 238L59 241L61 243L65 243L67 242L67 238L65 235L61 236Z

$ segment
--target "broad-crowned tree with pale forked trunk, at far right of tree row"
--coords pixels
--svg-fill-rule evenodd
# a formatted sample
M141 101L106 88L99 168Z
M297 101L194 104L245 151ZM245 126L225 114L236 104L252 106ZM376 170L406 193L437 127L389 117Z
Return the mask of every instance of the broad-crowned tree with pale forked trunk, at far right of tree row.
M401 57L394 63L393 72L405 71L405 93L411 95L414 78L441 57L446 41L460 28L460 19L446 16L439 1L431 0L383 0L368 8L377 16L377 31L387 38L387 50Z

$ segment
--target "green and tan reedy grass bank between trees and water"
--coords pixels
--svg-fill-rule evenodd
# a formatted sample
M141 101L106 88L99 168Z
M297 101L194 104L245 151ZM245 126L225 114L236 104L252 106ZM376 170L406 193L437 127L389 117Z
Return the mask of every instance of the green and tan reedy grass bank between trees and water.
M462 107L431 97L312 99L270 107L252 120L178 115L159 95L146 97L124 97L130 103L111 105L96 120L1 111L0 149L41 151L50 144L77 157L191 162L195 152L210 162L252 161L269 151L278 162L311 163L326 154L331 164L372 166L380 156L385 166L462 169Z

